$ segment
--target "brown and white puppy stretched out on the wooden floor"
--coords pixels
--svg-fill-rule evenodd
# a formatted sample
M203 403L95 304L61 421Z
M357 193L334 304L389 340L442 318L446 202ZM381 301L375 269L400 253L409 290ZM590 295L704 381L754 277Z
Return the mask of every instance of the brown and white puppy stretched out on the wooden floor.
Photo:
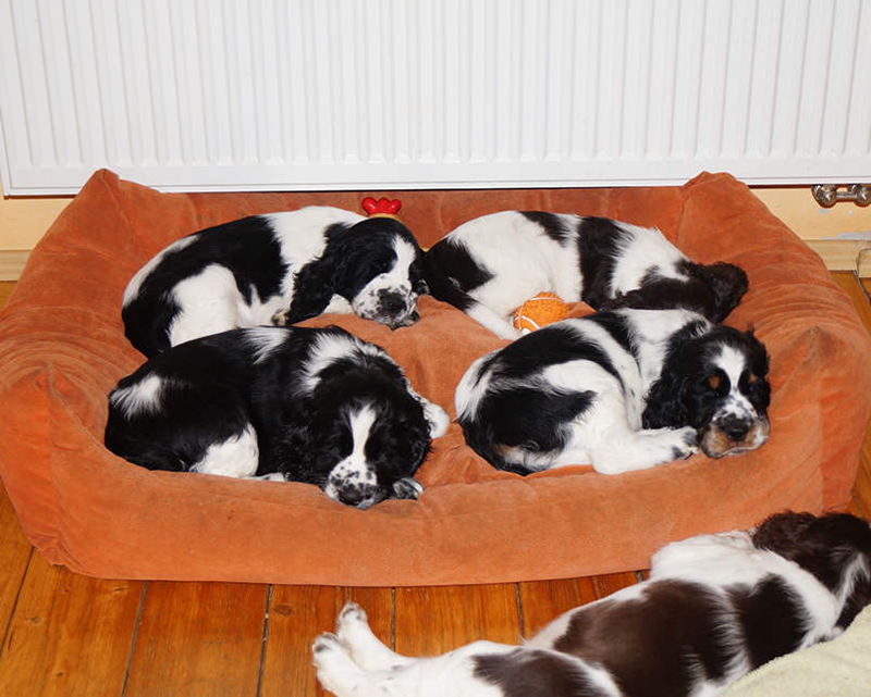
M652 558L650 578L555 619L522 646L475 642L410 658L348 603L314 645L321 684L354 695L717 695L785 654L831 639L871 602L871 527L780 513Z

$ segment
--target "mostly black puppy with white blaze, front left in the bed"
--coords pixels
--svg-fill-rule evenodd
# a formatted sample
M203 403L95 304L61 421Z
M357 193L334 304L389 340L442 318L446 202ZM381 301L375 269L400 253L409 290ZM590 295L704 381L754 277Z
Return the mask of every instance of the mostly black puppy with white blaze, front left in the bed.
M109 395L106 447L149 470L305 482L368 508L417 498L450 419L344 329L255 327L156 356Z

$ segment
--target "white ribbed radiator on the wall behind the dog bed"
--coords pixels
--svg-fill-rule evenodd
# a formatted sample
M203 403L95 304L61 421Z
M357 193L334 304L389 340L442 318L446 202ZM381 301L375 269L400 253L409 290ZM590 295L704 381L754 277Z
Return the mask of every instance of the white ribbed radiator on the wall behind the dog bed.
M871 0L0 0L11 195L871 175Z

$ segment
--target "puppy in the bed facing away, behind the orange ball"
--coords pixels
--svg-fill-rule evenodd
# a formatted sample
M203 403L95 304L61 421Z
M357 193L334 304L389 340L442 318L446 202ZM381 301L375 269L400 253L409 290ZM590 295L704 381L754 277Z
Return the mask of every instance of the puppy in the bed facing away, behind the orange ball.
M430 293L505 339L538 293L596 310L685 308L722 322L747 291L733 264L698 264L655 228L567 213L503 211L464 223L426 253Z

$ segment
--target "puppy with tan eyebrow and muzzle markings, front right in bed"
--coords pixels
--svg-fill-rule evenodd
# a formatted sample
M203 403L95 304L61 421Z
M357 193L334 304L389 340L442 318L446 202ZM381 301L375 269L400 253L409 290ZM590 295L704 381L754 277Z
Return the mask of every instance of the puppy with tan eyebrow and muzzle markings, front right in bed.
M619 474L758 448L768 439L768 354L752 332L689 310L563 320L476 360L455 394L466 441L528 474L590 463Z

